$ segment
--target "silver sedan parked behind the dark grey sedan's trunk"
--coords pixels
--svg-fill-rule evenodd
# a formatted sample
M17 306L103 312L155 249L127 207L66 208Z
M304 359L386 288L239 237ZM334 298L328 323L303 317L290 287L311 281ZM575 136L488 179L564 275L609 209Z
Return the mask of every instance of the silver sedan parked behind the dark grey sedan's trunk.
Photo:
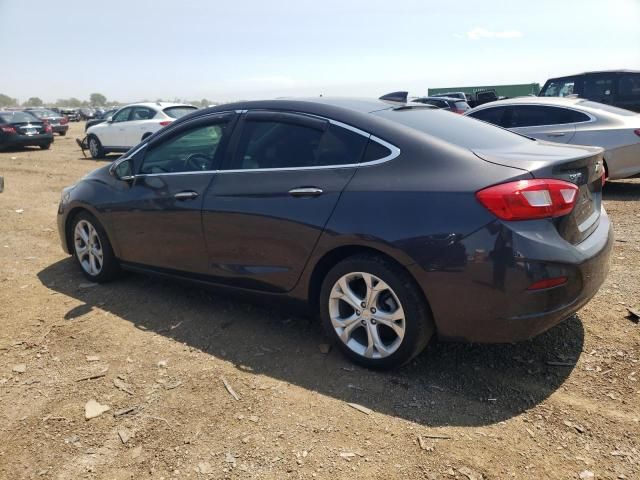
M540 140L602 147L609 180L640 174L640 114L635 112L581 98L521 97L464 115Z

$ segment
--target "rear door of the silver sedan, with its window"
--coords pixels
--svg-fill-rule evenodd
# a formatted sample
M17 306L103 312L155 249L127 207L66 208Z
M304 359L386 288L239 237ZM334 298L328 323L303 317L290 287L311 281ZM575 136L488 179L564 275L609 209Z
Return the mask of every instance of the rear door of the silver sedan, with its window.
M569 143L576 132L567 109L547 105L509 106L505 124L516 133L556 143Z

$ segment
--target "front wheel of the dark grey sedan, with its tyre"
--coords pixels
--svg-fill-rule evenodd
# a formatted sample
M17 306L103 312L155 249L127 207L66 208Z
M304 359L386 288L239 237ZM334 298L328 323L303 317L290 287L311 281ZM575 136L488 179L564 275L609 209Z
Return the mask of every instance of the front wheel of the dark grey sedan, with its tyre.
M73 256L85 277L104 283L118 276L120 264L98 219L89 212L80 212L69 233Z

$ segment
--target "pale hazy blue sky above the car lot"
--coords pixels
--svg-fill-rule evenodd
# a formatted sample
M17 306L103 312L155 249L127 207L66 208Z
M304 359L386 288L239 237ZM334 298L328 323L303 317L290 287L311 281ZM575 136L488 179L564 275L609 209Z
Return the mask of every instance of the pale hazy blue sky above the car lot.
M380 96L640 70L640 0L0 0L0 93Z

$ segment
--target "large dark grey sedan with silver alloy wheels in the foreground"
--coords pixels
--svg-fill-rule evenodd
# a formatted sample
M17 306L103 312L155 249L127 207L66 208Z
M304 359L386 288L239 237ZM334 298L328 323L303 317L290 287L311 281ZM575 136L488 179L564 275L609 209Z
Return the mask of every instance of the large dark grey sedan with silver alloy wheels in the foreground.
M596 293L612 245L602 149L427 105L331 99L198 110L63 191L87 278L121 268L286 298L354 361L433 333L504 342Z

